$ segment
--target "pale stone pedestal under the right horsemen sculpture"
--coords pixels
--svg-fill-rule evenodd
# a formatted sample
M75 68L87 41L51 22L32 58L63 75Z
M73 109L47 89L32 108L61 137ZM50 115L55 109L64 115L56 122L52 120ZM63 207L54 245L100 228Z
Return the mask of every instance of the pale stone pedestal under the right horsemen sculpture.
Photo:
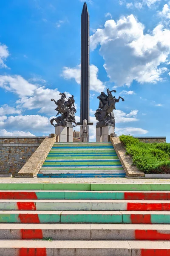
M96 142L108 142L110 141L110 135L116 137L114 133L114 125L108 123L106 126L100 126L99 123L96 124Z

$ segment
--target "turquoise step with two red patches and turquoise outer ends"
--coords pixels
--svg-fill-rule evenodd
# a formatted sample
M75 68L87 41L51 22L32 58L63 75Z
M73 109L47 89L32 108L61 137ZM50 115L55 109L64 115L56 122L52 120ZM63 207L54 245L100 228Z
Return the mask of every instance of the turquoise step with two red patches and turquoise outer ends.
M3 210L0 223L170 224L170 212Z

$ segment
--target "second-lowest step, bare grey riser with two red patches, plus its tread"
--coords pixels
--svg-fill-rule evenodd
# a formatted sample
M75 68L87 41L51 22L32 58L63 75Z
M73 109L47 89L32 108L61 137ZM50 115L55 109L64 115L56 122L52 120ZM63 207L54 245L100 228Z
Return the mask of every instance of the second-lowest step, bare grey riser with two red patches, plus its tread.
M164 224L0 224L0 239L170 240Z

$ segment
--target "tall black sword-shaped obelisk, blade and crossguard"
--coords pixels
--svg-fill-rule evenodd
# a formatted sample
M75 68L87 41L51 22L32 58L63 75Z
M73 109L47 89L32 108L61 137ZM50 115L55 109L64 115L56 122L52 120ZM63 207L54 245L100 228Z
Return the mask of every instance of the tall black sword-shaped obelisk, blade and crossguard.
M87 4L84 3L81 15L81 104L80 104L80 122L83 125L84 120L87 125L93 125L89 120L89 66L90 66L90 33L89 33L89 13ZM88 127L87 127L88 128Z

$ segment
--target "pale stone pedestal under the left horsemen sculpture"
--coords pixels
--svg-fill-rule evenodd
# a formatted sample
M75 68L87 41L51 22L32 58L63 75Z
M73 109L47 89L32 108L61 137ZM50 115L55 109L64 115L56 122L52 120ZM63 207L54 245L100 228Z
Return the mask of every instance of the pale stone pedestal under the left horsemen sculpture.
M57 124L55 134L58 135L58 142L73 142L73 125L69 122L67 126Z

